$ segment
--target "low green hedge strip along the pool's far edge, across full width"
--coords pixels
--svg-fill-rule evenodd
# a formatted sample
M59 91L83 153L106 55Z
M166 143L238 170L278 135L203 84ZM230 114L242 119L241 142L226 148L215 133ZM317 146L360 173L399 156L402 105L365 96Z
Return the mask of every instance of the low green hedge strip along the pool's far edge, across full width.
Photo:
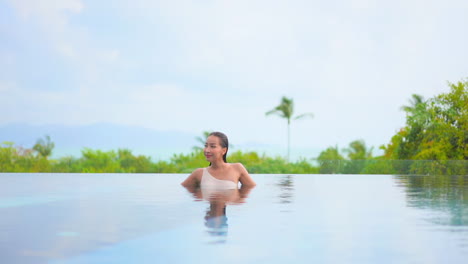
M363 143L363 142L362 142ZM354 144L350 144L354 145ZM364 144L363 144L364 145ZM358 148L356 148L358 149ZM344 151L348 152L347 149ZM101 151L84 149L80 158L71 156L49 160L33 155L34 150L14 147L5 142L0 147L0 172L64 172L64 173L190 173L196 168L208 166L203 152L176 154L170 161L152 162L149 157L135 156L128 149ZM360 157L351 156L351 157ZM228 161L242 163L250 173L255 174L429 174L466 175L466 160L387 160L383 157L346 160L338 147L329 147L314 162L300 159L288 162L282 157L269 157L257 152L235 151L228 155ZM359 168L359 171L353 169Z

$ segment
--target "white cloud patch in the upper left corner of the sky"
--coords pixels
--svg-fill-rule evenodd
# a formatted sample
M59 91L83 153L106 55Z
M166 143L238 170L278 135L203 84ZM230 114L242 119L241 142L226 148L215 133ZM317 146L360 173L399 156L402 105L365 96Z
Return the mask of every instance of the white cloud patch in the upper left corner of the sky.
M79 17L86 11L82 1L19 0L10 1L10 4L29 30L22 34L30 35L23 35L22 38L31 38L32 32L38 31L33 33L37 35L38 39L33 40L33 45L28 48L32 52L38 53L44 51L38 50L34 46L34 42L48 45L49 49L46 49L46 52L50 53L48 56L60 62L56 67L61 67L61 69L57 70L65 68L71 75L75 76L75 80L99 86L99 83L102 82L99 76L105 74L102 69L118 62L120 51L117 48L99 46L97 44L99 37L90 35L85 26L71 22L73 18ZM30 44L28 43L28 45ZM47 62L37 61L33 63L47 64ZM80 86L80 84L76 86Z

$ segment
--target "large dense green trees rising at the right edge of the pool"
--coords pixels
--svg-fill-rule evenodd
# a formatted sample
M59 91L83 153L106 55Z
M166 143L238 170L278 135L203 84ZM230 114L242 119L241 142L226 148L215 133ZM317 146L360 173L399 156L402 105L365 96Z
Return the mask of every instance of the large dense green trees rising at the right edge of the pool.
M413 95L411 105L402 108L406 126L382 147L387 159L414 160L396 164L397 173L466 173L449 160L468 160L468 81L448 85L449 93L428 100Z

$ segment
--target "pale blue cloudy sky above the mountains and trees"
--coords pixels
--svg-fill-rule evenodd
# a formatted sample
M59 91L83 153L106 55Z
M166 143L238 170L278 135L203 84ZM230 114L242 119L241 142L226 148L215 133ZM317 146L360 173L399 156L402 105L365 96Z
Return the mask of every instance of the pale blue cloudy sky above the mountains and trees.
M468 1L0 0L0 124L223 131L378 148L412 94L468 77Z

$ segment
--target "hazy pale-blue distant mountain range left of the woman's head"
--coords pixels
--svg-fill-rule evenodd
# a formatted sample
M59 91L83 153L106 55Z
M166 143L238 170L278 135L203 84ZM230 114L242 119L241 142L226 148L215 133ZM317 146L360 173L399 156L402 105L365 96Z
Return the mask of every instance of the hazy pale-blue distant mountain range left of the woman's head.
M189 152L199 144L199 135L180 131L158 131L137 126L98 123L86 126L0 125L0 143L12 141L16 146L32 148L37 139L49 135L55 143L54 158L81 156L83 148L117 150L128 148L135 155L167 159L175 153Z

